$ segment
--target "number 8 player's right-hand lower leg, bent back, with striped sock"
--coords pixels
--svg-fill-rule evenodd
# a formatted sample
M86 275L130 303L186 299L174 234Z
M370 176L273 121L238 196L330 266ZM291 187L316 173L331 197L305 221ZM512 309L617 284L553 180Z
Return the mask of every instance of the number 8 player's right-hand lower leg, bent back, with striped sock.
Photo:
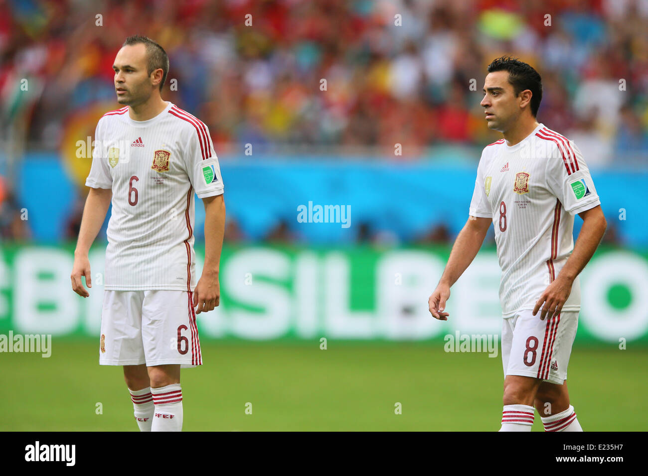
M542 382L535 396L535 407L545 431L583 431L569 403L566 380L562 385Z

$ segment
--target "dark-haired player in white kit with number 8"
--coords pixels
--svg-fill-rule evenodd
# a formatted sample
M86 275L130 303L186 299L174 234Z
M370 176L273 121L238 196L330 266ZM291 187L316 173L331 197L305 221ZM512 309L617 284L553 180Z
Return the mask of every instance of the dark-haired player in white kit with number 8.
M500 431L531 431L534 406L546 431L583 431L567 391L581 293L578 275L607 222L583 155L538 123L540 74L504 56L488 67L481 106L503 139L486 146L469 220L428 300L442 321L456 282L492 225L502 268L503 413ZM575 215L583 219L573 243Z

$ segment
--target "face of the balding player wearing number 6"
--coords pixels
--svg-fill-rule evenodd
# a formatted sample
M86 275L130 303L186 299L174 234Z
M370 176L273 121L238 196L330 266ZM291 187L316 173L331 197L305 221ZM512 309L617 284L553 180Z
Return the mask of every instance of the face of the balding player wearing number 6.
M119 104L134 106L146 102L157 87L146 72L146 47L143 43L122 47L115 56L113 70Z

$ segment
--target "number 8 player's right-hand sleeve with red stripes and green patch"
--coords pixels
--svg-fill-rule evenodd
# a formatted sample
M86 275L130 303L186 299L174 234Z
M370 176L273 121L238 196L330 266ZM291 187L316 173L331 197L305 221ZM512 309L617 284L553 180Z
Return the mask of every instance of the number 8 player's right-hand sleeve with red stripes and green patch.
M559 157L547 161L547 185L572 215L601 205L583 154L573 143L557 146Z

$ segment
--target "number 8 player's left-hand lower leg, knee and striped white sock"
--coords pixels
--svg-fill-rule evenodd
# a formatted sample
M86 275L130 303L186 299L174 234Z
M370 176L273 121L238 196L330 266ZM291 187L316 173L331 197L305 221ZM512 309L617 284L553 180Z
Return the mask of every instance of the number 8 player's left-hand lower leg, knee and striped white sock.
M504 410L500 431L531 431L533 400L542 380L521 375L504 378Z

